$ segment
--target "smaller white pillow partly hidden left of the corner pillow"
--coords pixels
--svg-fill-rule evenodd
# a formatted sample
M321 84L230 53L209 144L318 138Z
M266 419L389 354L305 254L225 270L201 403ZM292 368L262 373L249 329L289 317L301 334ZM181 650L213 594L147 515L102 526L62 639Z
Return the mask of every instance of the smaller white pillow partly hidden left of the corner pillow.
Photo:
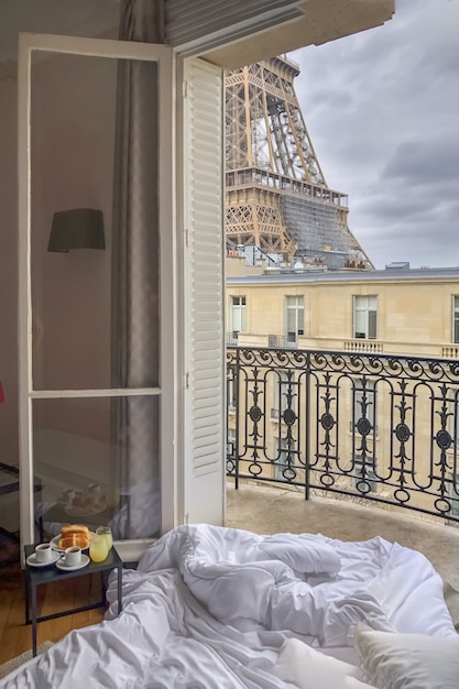
M364 689L356 665L326 656L297 638L288 638L273 668L276 677L299 689Z

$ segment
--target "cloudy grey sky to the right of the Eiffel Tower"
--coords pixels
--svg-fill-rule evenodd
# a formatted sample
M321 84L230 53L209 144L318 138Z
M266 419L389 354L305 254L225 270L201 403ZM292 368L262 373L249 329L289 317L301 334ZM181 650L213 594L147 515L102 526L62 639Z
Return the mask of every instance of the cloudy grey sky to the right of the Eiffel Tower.
M327 184L376 269L459 265L459 0L289 54Z

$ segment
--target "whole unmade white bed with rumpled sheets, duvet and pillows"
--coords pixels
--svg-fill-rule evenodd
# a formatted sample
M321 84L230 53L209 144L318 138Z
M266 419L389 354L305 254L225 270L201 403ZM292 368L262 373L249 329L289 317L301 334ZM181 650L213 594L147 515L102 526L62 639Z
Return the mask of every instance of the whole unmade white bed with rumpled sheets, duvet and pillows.
M124 571L119 617L114 598L0 688L459 687L441 578L382 538L181 526Z

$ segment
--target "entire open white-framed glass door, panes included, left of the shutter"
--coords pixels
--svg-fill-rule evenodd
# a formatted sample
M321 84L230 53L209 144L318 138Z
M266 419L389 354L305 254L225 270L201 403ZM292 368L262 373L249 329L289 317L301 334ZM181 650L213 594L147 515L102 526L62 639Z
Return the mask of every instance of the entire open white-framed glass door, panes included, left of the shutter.
M165 46L20 36L23 544L172 521L173 83Z

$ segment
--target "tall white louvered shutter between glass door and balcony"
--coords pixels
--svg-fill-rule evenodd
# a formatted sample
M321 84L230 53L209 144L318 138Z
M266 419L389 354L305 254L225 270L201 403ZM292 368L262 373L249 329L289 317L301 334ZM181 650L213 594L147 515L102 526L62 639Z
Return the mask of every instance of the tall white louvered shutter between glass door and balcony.
M184 521L222 524L225 511L222 73L184 67Z

